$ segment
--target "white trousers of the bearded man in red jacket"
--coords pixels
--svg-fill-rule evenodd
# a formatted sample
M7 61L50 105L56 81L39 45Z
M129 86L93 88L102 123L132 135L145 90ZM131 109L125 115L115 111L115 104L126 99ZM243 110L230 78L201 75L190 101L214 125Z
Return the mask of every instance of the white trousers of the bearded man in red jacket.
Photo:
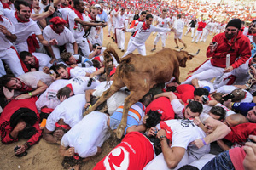
M224 68L213 66L211 60L208 60L205 64L201 65L195 73L189 77L187 80L182 82L182 84L191 84L194 78L198 80L211 81L212 78L220 77L224 74Z

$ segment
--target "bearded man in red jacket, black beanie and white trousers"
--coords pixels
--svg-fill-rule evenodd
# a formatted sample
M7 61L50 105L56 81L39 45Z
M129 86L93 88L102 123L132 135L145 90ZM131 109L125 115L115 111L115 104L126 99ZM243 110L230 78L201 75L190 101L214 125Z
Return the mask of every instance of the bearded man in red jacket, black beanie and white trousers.
M189 84L194 78L212 80L224 72L230 72L244 64L251 56L250 40L242 34L241 20L233 19L223 33L213 37L207 48L207 60L182 84Z

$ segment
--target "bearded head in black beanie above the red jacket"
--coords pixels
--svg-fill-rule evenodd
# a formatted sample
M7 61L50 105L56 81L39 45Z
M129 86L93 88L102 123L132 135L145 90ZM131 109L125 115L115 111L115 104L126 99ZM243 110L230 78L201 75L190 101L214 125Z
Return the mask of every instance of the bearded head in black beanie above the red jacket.
M241 20L233 19L227 24L225 29L225 37L230 40L235 37L238 31L241 29Z

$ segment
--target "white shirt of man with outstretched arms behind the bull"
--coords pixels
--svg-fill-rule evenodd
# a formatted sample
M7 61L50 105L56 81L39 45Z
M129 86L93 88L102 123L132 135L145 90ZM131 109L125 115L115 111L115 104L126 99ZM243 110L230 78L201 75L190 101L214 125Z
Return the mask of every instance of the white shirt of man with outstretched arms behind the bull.
M150 25L149 28L143 30L143 23L144 22L139 22L136 27L127 30L128 32L136 32L132 43L137 46L143 45L153 31L171 31L170 28L159 28L153 25Z

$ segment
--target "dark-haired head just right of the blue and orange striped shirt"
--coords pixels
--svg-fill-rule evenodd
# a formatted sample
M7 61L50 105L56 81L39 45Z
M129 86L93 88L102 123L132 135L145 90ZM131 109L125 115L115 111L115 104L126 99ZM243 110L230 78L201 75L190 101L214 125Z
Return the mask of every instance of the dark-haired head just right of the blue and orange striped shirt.
M143 118L143 124L147 128L155 127L161 120L161 115L158 111L149 110L147 115Z

